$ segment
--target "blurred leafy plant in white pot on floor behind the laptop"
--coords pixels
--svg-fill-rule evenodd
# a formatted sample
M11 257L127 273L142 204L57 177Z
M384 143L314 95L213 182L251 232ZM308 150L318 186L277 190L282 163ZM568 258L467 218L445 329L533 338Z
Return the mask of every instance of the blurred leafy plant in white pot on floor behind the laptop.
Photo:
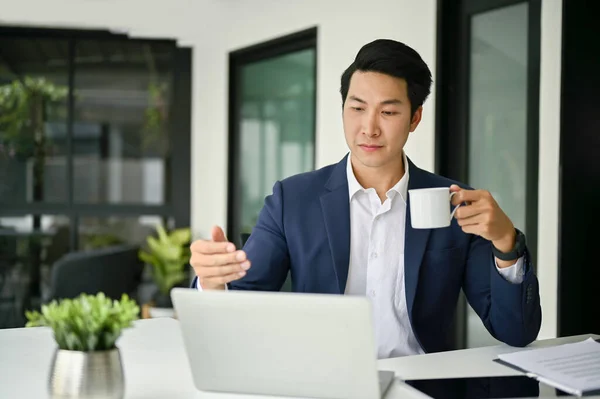
M158 237L146 239L147 250L141 249L139 257L151 266L151 274L158 291L153 297L150 307L151 317L171 317L174 315L171 302L171 288L185 281L186 266L190 259L189 228L175 229L167 232L162 225L156 226Z

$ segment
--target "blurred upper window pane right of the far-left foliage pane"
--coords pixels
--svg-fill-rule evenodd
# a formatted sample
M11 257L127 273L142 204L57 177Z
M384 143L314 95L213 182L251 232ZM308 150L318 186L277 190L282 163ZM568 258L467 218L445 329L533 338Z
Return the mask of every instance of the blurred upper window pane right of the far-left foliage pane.
M76 203L165 204L173 52L172 43L77 41Z

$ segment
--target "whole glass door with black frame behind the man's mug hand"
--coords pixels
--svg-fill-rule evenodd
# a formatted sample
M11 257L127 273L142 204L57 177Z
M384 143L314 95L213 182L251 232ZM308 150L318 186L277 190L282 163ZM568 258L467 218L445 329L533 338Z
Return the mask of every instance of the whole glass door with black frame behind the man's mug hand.
M443 3L437 171L490 191L535 260L540 1ZM462 297L457 346L494 343Z

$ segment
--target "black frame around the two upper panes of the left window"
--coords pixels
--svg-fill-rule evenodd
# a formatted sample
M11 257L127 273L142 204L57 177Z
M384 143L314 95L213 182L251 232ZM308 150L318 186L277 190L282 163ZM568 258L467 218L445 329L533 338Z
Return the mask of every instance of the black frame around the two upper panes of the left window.
M67 100L67 198L64 202L23 202L1 203L0 217L33 216L33 229L40 228L36 219L46 215L67 216L70 221L70 247L79 249L79 219L82 217L103 216L146 216L156 215L164 220L172 218L170 227L188 227L191 208L191 87L192 87L192 49L178 47L174 40L133 39L124 33L108 30L76 30L0 27L0 37L13 39L56 39L68 41L68 100ZM136 43L163 43L172 46L172 102L170 104L169 139L172 151L168 158L166 173L167 196L162 205L144 203L98 203L83 204L74 202L73 190L73 124L74 124L74 84L75 52L80 40L127 41Z

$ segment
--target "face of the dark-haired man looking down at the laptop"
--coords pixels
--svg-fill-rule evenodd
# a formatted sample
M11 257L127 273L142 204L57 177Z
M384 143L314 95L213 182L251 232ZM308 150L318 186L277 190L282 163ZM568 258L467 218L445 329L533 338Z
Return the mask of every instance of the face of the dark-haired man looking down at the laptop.
M423 111L419 107L411 118L406 89L404 79L389 75L361 71L352 75L343 119L355 167L402 164L402 149Z

